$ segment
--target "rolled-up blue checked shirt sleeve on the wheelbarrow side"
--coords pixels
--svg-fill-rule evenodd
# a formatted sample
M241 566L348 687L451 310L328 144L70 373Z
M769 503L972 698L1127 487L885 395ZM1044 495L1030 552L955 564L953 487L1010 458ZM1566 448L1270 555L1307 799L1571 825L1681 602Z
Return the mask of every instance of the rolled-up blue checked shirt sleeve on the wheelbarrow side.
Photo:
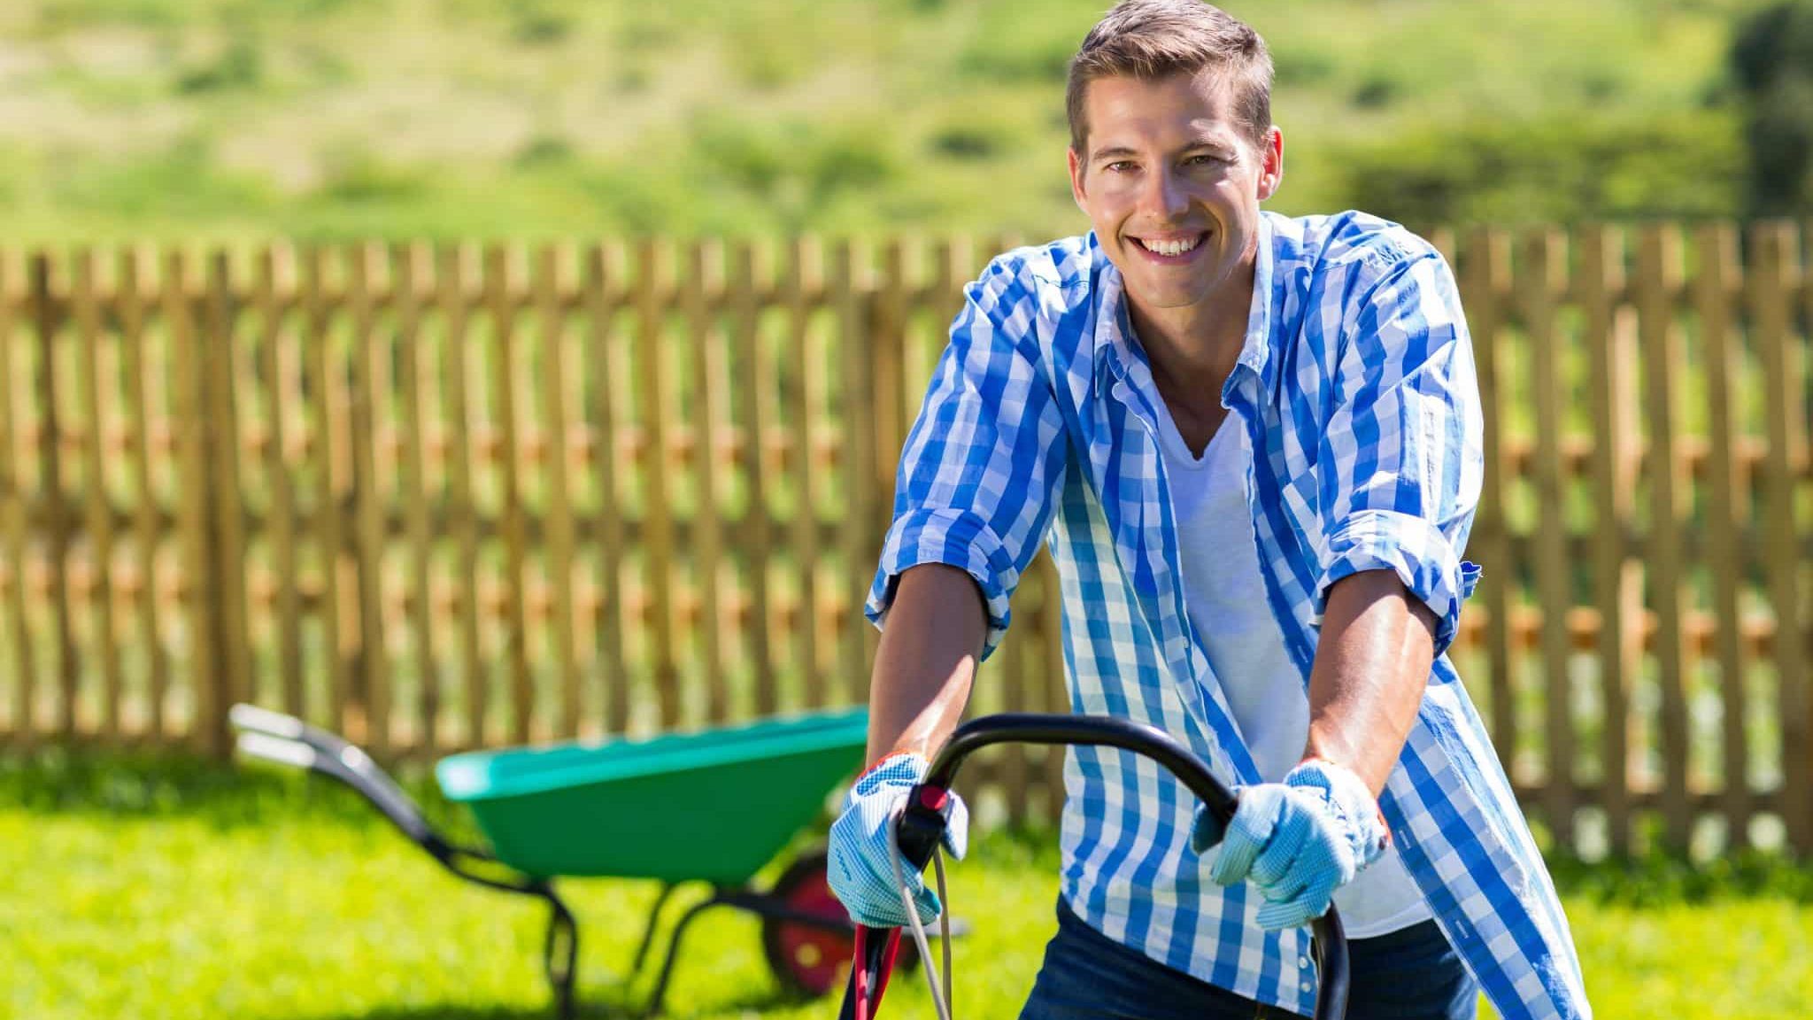
M965 298L901 450L894 525L865 613L885 626L905 570L955 566L983 592L986 659L1006 633L1008 601L1050 526L1068 446L1021 263L997 258Z

